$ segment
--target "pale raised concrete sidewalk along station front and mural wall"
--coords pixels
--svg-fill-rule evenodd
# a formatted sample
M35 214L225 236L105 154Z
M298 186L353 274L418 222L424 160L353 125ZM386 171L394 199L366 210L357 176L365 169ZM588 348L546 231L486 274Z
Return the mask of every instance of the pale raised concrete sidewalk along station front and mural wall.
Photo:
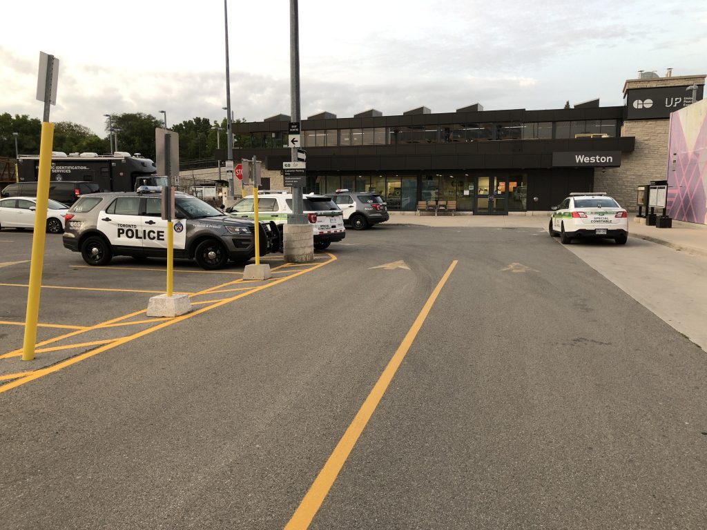
M547 230L549 212L511 213L508 216L469 216L449 213L418 216L414 212L390 212L390 225L423 225L435 227L537 228ZM629 236L665 245L682 252L707 257L707 225L673 220L672 228L646 226L645 219L629 213ZM630 240L629 240L630 244Z

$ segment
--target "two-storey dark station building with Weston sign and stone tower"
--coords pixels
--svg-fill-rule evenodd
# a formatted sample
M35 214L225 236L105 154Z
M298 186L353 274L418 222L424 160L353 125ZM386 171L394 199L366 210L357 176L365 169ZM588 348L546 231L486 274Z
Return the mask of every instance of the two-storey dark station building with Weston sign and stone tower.
M380 193L391 211L454 201L460 213L548 211L571 192L607 192L635 211L636 189L666 179L670 114L701 100L706 75L641 72L624 83L624 105L599 100L553 110L456 112L419 107L385 116L367 110L301 121L305 192ZM286 114L233 124L233 158L264 162L264 189L285 189L291 160ZM238 191L238 189L237 189Z

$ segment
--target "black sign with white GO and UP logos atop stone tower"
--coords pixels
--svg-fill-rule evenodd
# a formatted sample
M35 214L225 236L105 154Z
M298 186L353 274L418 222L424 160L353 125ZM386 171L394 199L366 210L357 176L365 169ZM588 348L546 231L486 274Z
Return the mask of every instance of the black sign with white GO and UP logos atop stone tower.
M701 100L704 86L698 85L696 100ZM663 88L633 88L626 94L626 117L628 119L668 118L671 112L691 105L692 90L686 86Z

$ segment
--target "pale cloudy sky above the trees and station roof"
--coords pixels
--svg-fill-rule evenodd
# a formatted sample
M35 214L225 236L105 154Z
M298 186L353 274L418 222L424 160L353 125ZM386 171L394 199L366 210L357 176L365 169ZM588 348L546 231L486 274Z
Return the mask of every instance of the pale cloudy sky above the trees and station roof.
M228 1L234 117L291 115L290 1ZM622 105L639 70L707 73L707 2L300 0L300 116L375 109ZM0 113L42 119L40 52L59 59L49 121L168 126L226 116L223 0L21 0L0 16Z

